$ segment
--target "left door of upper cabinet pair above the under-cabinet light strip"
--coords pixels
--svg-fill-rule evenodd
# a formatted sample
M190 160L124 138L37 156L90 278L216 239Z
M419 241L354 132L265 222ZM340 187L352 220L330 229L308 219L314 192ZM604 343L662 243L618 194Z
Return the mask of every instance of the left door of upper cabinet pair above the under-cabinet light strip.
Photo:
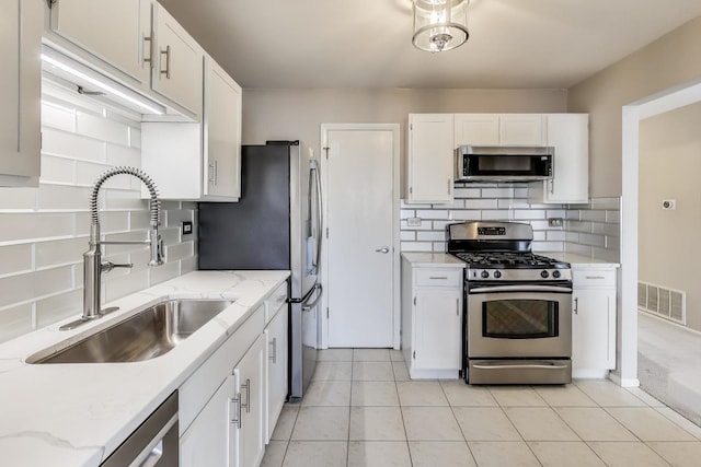
M152 0L56 0L51 31L149 85Z

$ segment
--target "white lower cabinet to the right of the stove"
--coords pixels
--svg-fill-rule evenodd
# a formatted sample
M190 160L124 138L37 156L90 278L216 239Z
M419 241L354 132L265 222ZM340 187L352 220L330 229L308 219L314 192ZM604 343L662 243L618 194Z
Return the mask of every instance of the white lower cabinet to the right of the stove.
M573 265L572 371L601 377L616 369L616 269Z

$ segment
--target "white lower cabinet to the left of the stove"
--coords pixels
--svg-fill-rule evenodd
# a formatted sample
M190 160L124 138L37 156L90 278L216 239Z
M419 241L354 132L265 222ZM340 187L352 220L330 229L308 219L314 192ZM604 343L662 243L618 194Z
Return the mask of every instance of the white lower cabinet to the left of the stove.
M462 266L402 258L402 351L412 378L457 378L462 342Z

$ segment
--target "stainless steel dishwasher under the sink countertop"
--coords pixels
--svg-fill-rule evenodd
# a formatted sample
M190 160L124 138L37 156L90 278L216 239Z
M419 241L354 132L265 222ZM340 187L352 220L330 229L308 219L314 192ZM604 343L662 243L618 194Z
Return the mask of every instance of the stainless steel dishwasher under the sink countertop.
M103 467L177 467L177 390L101 464Z

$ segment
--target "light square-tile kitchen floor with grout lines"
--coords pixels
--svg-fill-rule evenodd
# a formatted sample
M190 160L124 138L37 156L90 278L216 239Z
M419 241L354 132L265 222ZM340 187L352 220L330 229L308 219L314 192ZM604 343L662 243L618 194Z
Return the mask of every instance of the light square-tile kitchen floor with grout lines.
M265 467L701 466L701 428L609 381L409 381L401 352L331 349Z

